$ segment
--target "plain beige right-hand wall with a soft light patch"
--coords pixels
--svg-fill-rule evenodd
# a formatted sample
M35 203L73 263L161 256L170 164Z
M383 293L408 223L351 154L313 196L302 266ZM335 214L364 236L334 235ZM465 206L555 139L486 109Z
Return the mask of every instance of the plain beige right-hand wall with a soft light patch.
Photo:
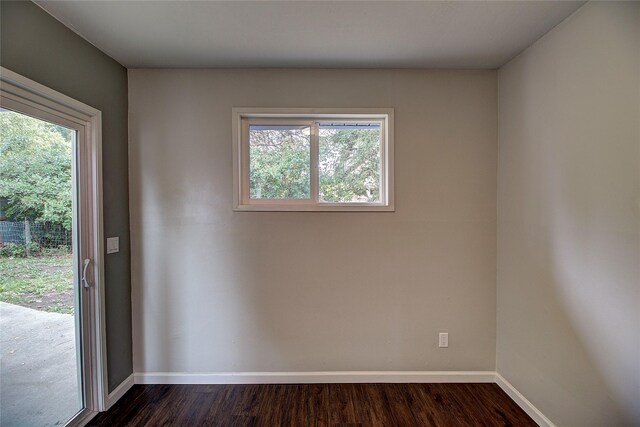
M640 3L499 71L497 368L559 426L640 425Z

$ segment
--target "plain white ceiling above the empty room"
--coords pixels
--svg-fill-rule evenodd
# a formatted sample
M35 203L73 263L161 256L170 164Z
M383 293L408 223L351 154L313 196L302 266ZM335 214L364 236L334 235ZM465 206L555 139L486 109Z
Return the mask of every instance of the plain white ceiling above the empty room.
M38 1L129 68L497 68L581 1Z

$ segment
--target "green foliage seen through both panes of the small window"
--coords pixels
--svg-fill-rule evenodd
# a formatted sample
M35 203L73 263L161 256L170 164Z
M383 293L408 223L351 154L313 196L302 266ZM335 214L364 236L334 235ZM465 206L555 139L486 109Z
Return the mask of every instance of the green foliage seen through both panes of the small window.
M254 199L310 197L309 128L250 130L249 193ZM380 129L320 127L319 192L324 202L380 199Z

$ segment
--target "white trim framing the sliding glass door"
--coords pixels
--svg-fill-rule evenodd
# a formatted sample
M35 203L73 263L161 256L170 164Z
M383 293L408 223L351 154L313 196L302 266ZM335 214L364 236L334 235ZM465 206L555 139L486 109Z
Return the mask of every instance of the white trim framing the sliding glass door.
M90 372L87 375L90 396L86 407L91 412L103 411L108 397L107 345L104 302L104 242L102 213L102 113L80 101L30 80L18 73L0 67L0 96L7 102L23 104L57 116L62 120L77 123L84 128L87 157L90 164L90 182L82 199L84 209L90 215L93 227L90 230L92 244L88 248L94 262L93 286L89 290L89 357ZM84 417L83 417L84 418Z

